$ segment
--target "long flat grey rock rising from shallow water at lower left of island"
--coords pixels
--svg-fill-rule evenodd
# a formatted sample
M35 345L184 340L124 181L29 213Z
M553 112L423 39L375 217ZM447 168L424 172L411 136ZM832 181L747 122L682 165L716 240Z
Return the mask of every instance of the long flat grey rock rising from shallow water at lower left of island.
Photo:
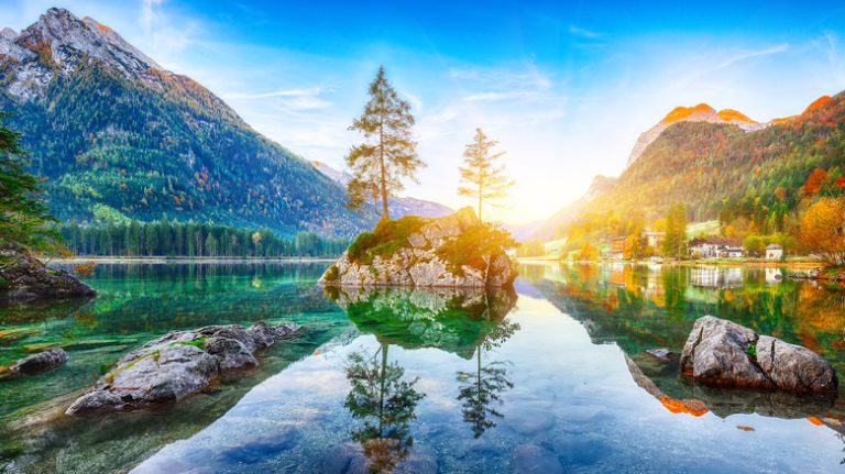
M133 410L179 400L221 375L257 366L256 350L297 329L297 324L259 322L249 329L211 326L169 332L123 356L66 414Z

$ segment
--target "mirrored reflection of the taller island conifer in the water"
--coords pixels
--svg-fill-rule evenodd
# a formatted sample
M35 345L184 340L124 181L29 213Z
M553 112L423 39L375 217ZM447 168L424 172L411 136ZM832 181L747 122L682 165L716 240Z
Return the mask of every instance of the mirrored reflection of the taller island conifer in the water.
M371 473L391 472L408 456L414 444L410 421L425 396L414 388L417 378L404 381L405 370L387 362L387 349L382 344L372 356L353 353L347 366L352 389L345 407L353 418L364 421L352 431L352 439L361 443Z

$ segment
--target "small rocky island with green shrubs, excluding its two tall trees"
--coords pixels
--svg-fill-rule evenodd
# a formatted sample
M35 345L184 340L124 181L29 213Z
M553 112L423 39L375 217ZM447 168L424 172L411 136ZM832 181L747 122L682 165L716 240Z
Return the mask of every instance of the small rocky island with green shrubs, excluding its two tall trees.
M509 234L472 208L441 218L405 216L363 232L320 278L327 286L498 288L513 284Z

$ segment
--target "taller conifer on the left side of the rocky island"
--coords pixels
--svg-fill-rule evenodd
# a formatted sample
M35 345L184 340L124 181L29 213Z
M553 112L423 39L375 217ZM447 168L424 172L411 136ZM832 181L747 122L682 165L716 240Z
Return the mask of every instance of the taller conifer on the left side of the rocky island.
M387 198L404 189L404 178L416 180L416 170L425 164L411 135L410 104L387 81L384 66L369 93L363 113L350 126L364 135L364 143L353 146L345 157L352 170L347 185L349 206L356 209L370 199L381 201L382 219L389 219Z

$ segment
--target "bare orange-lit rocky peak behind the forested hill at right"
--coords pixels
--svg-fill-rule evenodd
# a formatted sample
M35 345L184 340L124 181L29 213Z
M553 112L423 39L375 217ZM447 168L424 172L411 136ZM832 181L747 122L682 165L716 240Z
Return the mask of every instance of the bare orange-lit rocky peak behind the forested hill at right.
M636 162L646 147L657 140L663 130L678 122L731 123L746 132L768 126L767 123L755 122L744 113L733 109L723 109L716 112L715 109L706 103L699 103L694 107L676 107L661 121L657 122L655 126L639 135L634 144L634 148L630 151L630 156L628 156L627 166Z

